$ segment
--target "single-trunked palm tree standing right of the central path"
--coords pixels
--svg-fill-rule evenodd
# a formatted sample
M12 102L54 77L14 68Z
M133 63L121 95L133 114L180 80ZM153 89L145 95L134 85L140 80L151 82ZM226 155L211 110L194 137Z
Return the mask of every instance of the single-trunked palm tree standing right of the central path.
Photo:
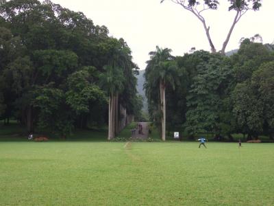
M166 140L166 85L171 84L175 89L178 77L176 62L171 56L171 49L161 49L156 47L155 52L150 52L150 60L147 61L145 72L145 89L148 99L155 101L155 89L160 91L160 111L161 111L161 135L162 140Z

